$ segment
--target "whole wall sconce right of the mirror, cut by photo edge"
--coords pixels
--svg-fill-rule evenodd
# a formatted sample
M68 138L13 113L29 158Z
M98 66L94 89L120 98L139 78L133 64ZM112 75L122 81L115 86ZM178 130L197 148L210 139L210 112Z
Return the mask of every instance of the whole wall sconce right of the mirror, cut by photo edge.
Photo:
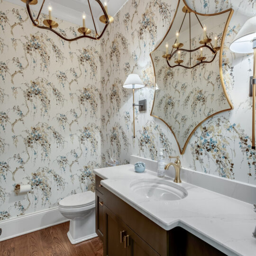
M234 41L229 46L234 53L254 53L253 78L250 79L252 87L253 112L252 112L252 149L255 149L255 97L256 97L256 16L249 18L240 29Z

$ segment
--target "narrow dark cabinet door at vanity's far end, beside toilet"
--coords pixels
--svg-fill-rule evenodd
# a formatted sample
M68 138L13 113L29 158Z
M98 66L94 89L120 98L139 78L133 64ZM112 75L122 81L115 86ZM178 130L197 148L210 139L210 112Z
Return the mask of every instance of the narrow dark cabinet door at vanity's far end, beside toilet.
M102 194L98 190L95 190L96 195L96 233L103 241L103 230L104 230L104 215L103 215L103 199Z

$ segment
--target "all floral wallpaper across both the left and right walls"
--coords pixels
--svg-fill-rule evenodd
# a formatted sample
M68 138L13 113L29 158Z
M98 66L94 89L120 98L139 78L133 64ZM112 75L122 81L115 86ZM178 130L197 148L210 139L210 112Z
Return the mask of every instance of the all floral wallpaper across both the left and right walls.
M251 0L190 0L198 12L235 12L227 46L248 17ZM66 42L33 27L24 8L0 0L0 220L57 206L67 195L94 189L93 168L110 157L121 164L129 155L156 159L159 148L178 155L176 141L159 119L150 116L155 78L149 53L163 38L177 3L128 0L100 41ZM46 16L45 16L46 17ZM44 18L44 17L42 17ZM58 20L72 37L77 26ZM234 110L204 122L182 155L182 165L198 172L256 184L251 150L252 56L223 52L225 86ZM135 100L136 138L132 131L132 91L122 87L129 73L145 88ZM17 183L32 191L15 195Z

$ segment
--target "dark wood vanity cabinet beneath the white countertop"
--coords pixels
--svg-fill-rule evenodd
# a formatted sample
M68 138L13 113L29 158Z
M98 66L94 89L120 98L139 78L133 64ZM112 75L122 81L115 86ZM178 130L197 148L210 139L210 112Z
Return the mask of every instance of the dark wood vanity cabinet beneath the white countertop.
M225 255L180 227L162 229L101 185L96 175L96 233L104 256Z

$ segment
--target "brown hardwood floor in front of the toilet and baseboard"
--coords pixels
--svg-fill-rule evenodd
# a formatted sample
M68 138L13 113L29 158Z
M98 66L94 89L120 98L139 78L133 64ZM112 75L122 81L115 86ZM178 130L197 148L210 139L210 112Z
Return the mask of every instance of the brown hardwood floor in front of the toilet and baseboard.
M102 256L100 238L72 245L69 222L0 242L0 256Z

